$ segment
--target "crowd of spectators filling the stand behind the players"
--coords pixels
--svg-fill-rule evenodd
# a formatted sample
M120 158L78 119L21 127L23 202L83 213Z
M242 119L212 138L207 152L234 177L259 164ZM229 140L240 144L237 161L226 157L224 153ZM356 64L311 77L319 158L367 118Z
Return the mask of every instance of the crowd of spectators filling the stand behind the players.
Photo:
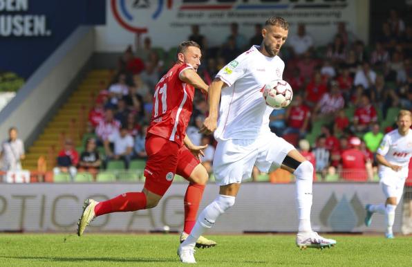
M226 42L209 47L197 25L187 37L200 44L203 64L198 73L209 84L225 64L262 41L260 24L256 34L246 37L236 23L230 24ZM317 180L333 180L340 175L348 181L368 181L376 177L374 153L384 133L395 127L399 109L412 108L412 24L406 24L391 10L382 31L366 46L344 23L327 46L297 26L281 51L285 61L284 80L294 91L287 109L274 110L270 129L301 149L315 166ZM111 160L124 160L129 167L133 158L144 159L144 138L151 117L156 83L174 64L176 49L166 53L152 46L150 37L136 35L132 46L118 60L111 85L97 96L88 114L86 147L79 156L71 140L59 153L59 169L79 167L98 169ZM203 165L212 173L216 142L198 133L207 116L205 95L196 91L194 112L187 135L195 145L209 144ZM66 147L67 146L67 147ZM104 158L96 147L102 147ZM259 171L253 174L259 178Z

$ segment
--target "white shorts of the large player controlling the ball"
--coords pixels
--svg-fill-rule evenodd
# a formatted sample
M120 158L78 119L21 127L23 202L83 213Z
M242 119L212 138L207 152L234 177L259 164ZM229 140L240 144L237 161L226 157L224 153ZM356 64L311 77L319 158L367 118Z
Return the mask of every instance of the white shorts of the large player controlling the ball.
M230 139L218 142L213 160L217 185L241 183L252 176L253 166L268 172L272 164L280 167L294 146L274 133L263 133L259 138Z

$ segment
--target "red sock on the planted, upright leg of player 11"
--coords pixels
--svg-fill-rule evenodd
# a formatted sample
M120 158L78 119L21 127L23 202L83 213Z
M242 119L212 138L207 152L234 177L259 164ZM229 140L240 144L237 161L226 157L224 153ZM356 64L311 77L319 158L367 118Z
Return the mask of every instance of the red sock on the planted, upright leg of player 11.
M191 183L187 187L185 194L185 226L183 228L183 231L187 234L190 234L196 223L196 214L203 196L203 190L205 190L205 185Z

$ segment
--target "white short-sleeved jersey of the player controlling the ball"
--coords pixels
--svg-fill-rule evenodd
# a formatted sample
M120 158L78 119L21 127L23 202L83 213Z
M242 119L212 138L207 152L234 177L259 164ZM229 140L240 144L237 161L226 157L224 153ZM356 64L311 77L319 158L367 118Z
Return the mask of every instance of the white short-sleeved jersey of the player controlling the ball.
M285 63L278 57L266 57L259 46L239 55L216 77L227 87L222 89L216 140L256 139L270 132L269 116L273 109L265 104L263 86L281 80Z

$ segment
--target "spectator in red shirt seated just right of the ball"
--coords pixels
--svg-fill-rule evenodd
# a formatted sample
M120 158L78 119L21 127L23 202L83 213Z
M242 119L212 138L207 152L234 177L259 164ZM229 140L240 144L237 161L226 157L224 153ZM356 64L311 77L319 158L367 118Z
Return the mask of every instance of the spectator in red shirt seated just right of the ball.
M308 131L309 120L310 109L303 104L301 95L296 95L291 103L291 107L286 111L288 127L283 134L299 133L299 136L305 136L306 131Z

